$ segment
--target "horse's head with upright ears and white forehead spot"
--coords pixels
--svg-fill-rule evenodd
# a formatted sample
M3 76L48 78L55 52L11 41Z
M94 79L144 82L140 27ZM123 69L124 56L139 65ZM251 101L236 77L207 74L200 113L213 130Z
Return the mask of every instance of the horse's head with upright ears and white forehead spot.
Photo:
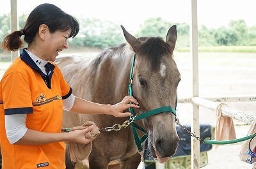
M172 26L166 41L161 38L134 38L124 27L124 36L136 54L132 92L140 103L136 114L159 107L176 107L180 73L173 60L177 40L176 26ZM152 115L142 120L148 132L148 147L160 163L175 154L179 136L175 128L175 115L171 112Z

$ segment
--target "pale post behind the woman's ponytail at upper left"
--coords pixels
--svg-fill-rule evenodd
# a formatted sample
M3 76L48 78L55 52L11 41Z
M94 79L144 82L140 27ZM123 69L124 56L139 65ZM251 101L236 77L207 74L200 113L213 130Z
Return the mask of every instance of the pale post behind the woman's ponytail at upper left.
M17 13L17 0L11 0L11 32L19 29L19 17ZM12 62L19 56L19 50L11 52Z

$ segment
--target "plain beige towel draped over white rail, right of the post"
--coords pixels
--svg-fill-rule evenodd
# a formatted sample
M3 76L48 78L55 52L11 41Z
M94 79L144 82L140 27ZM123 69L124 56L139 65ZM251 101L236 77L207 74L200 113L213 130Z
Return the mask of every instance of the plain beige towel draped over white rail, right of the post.
M221 103L216 108L216 128L215 128L215 140L232 140L236 139L236 131L232 117L227 117L221 113L222 108L227 104ZM218 145L216 145L216 148Z

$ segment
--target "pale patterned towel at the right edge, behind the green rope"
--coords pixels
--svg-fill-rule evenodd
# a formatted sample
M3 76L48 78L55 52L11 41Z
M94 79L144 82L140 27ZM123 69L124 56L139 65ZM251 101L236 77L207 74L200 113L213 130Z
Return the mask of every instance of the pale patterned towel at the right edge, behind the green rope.
M254 120L250 126L250 129L247 133L247 135L252 135L256 133L256 120ZM250 143L250 149L249 149L249 143ZM256 138L252 138L249 140L246 140L243 142L241 151L239 154L239 158L241 161L244 161L245 163L253 164L253 167L255 168L255 162L256 162Z

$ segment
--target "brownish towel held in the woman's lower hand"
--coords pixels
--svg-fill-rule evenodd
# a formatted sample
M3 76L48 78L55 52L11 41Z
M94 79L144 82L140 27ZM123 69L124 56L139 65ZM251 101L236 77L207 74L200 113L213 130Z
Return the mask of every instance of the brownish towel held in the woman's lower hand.
M76 129L85 129L91 125L94 125L95 127L92 128L92 131L86 133L86 135L84 135L84 137L85 138L93 138L93 137L96 137L97 135L99 135L100 131L99 131L99 128L92 121L84 122L84 124L82 126L74 127L70 131L74 131ZM68 147L69 147L70 159L72 162L83 161L84 159L88 158L88 156L92 152L92 142L90 142L86 145L81 144L81 143L69 142Z

